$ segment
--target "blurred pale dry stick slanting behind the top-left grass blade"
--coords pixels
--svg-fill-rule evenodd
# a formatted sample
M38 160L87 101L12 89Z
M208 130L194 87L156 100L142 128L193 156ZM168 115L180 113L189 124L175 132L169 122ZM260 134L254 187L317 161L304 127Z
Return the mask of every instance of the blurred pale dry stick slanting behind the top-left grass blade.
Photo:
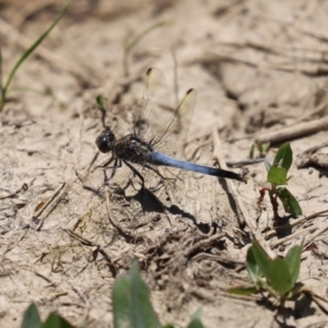
M0 35L2 35L3 38L9 39L13 44L17 43L22 48L28 48L33 44L32 39L19 33L13 26L8 24L5 21L1 20L1 17ZM58 69L75 74L79 79L83 80L87 84L92 83L93 85L98 85L99 83L99 79L97 78L98 74L94 72L93 68L87 68L87 70L85 70L74 61L66 59L62 56L59 56L56 52L50 51L40 45L34 50L34 54L49 61ZM89 73L89 71L91 70L93 72Z

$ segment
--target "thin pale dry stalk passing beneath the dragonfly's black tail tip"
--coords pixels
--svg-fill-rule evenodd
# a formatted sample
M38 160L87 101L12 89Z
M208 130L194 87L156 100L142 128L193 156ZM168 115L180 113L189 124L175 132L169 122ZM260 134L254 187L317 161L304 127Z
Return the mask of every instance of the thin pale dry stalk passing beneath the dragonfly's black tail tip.
M212 138L213 138L213 144L214 144L214 157L219 161L219 165L222 169L227 169L225 161L222 156L223 151L222 151L222 145L221 145L221 141L220 141L220 136L218 132L218 127L213 126L212 128ZM270 258L274 258L276 255L274 253L272 253L272 250L267 246L265 239L262 238L262 236L257 232L256 230L256 224L255 222L251 220L251 218L248 214L248 211L246 210L244 202L242 200L242 198L239 197L239 195L236 192L236 189L234 187L234 184L231 179L227 180L227 184L230 185L230 189L232 190L232 195L235 198L236 203L238 204L239 211L249 229L250 232L250 236L253 239L256 239L260 246L266 249L267 254L269 255Z

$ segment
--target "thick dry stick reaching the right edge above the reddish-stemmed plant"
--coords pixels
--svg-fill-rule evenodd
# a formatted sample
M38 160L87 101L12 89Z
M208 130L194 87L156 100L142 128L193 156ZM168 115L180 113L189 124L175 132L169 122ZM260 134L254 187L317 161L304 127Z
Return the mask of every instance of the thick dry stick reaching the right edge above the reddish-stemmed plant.
M285 140L304 137L306 134L315 133L315 132L326 130L326 129L328 129L328 117L325 117L323 119L315 119L315 120L298 124L295 126L285 127L280 130L277 130L277 131L266 132L266 133L259 134L256 138L256 141L259 143L282 142Z

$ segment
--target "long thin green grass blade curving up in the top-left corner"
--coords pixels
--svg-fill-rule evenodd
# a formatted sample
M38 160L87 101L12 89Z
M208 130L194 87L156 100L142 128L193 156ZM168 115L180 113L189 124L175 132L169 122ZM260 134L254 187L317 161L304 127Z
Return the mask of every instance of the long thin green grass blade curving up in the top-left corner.
M21 58L16 61L14 67L9 73L9 77L4 83L2 84L2 70L0 69L0 112L2 110L4 103L5 103L5 97L8 93L8 89L10 86L10 83L16 73L17 69L27 59L27 57L37 48L37 46L48 36L48 34L51 32L51 30L58 24L58 22L62 19L62 16L66 14L69 5L71 4L72 0L70 0L67 5L63 8L61 13L58 15L58 17L54 21L54 23L35 40L34 44L31 45L28 49L26 49ZM0 49L0 68L2 68L2 57L1 57L1 49Z

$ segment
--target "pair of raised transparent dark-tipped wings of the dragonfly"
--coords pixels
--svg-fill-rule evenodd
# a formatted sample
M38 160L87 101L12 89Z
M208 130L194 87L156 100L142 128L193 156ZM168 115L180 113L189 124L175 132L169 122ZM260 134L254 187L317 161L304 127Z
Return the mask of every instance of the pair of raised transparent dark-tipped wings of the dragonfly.
M134 115L136 134L159 151L181 154L196 101L197 91L190 89L173 108L163 72L156 68L149 69L143 97Z

